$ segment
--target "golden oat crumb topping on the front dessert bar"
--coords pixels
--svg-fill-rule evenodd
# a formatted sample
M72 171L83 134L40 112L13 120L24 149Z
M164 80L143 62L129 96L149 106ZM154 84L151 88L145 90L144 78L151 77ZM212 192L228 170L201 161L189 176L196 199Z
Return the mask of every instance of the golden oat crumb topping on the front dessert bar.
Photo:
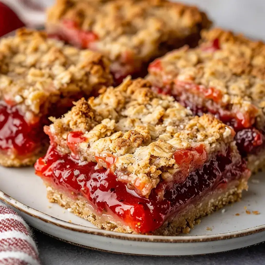
M69 133L82 132L82 140L76 142L74 150L79 159L100 160L100 166L107 167L107 160L102 158L111 157L111 169L118 178L144 183L144 196L156 187L163 172L181 170L174 159L177 150L202 144L210 157L233 145L233 129L211 115L193 117L173 97L158 95L151 86L141 78L127 78L97 98L77 101L70 112L54 119L45 131L63 153L73 152L68 147ZM188 171L193 169L191 166Z

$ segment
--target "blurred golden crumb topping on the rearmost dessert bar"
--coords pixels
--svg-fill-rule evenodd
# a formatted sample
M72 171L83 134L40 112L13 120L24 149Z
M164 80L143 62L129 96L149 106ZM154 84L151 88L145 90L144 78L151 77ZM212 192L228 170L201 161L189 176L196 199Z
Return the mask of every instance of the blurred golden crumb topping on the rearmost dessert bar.
M160 43L176 47L176 39L198 35L211 24L196 7L166 0L58 0L46 26L52 32L59 21L69 20L96 34L95 49L124 62L161 56L166 51Z

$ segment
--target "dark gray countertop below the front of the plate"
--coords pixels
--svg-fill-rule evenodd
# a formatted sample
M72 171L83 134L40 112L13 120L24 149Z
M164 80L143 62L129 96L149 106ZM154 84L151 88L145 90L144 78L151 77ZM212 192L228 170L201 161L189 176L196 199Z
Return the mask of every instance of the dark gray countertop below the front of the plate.
M35 231L43 265L262 265L265 243L226 253L190 257L141 257L85 249L59 241Z

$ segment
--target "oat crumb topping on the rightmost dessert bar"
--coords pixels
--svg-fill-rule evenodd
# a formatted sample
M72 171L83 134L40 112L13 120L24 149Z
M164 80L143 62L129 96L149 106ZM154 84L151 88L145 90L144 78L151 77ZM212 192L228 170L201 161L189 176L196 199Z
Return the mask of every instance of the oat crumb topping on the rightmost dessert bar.
M219 47L213 47L216 39ZM181 81L214 87L222 95L218 104L233 104L229 108L234 112L263 115L265 45L262 42L222 29L203 30L199 47L185 46L169 52L158 59L156 65L161 72L150 68L148 79L157 85Z

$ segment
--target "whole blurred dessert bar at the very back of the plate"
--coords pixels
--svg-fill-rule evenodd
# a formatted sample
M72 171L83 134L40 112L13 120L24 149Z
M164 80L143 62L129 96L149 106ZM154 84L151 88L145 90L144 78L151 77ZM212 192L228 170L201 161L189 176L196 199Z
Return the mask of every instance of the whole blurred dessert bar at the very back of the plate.
M195 47L211 22L197 7L165 0L57 0L47 12L50 36L111 59L114 81L144 77L148 62L184 44Z

